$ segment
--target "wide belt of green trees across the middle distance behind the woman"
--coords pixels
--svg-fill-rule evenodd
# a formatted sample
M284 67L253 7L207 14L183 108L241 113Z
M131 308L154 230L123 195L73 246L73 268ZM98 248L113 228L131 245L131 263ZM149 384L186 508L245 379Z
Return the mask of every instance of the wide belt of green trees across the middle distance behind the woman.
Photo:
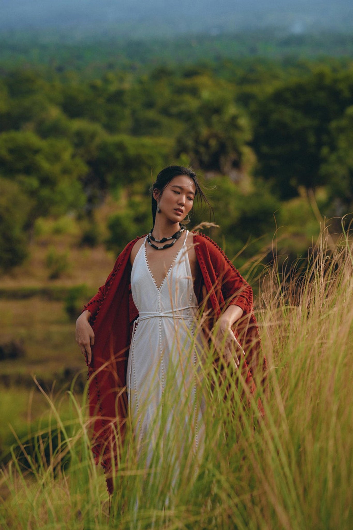
M2 237L14 249L7 270L23 261L38 217L71 212L80 219L82 242L96 244L95 209L108 194L124 198L110 221L109 245L120 248L127 234L148 230L148 189L171 163L195 166L221 183L221 193L229 187L229 197L215 193L214 206L231 253L248 240L255 251L261 233L273 231L279 202L270 191L286 200L301 187L316 192L324 185L321 214L346 214L353 178L347 66L344 59L257 57L145 72L110 69L95 78L5 71L2 175L21 191L16 204L27 203L14 227L4 220L11 219L10 207L4 210ZM270 191L252 175L268 181Z

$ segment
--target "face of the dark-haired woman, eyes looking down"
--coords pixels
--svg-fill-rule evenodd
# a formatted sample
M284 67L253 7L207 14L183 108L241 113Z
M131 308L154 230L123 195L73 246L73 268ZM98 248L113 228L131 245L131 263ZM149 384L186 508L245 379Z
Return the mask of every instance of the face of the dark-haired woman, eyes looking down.
M160 193L153 192L159 209L173 223L182 222L192 209L195 198L194 181L186 175L175 176Z

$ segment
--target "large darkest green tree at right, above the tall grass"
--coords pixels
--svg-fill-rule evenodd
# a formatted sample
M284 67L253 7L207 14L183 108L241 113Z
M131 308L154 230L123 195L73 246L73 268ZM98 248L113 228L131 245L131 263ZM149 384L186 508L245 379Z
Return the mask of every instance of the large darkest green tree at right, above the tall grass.
M327 68L259 100L253 144L258 173L282 198L297 195L300 185L314 190L329 182L321 165L334 143L331 122L351 104L350 86L348 73Z

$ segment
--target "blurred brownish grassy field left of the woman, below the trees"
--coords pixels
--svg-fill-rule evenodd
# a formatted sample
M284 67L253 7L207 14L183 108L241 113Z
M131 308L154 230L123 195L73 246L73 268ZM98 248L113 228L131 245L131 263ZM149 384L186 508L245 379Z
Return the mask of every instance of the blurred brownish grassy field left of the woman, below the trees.
M106 201L99 210L99 231L106 236L106 219L115 204ZM70 293L75 290L76 311L104 284L113 267L115 255L104 244L81 247L82 227L74 218L39 219L35 226L30 255L19 268L1 278L1 345L15 343L22 355L1 359L0 364L0 458L8 452L16 432L26 432L24 418L34 422L46 408L33 378L53 393L67 390L73 377L82 372L76 391L82 393L86 366L75 342L75 315L66 311ZM64 257L64 267L57 278L50 278L53 265ZM31 397L32 396L32 397Z

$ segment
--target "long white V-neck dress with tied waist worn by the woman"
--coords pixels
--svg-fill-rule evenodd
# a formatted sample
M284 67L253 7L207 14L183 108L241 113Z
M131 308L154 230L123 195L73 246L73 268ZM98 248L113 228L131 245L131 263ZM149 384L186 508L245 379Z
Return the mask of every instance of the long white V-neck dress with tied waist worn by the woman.
M201 434L195 376L201 338L195 336L198 307L186 248L187 234L159 287L149 268L147 240L141 245L131 272L132 296L139 317L132 334L126 384L135 434L140 446L146 441L148 462L160 435L158 418L165 395L175 396L174 403L170 399L167 402L168 421L174 418L185 428L187 422L192 423L196 448Z

